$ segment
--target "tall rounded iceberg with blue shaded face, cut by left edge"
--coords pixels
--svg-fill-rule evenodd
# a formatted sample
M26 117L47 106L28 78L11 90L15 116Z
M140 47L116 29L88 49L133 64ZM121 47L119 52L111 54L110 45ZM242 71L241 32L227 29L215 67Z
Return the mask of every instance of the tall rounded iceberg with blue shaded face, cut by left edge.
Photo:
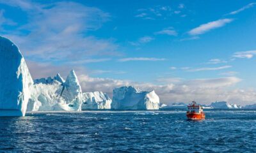
M33 80L19 48L0 36L0 116L24 116Z

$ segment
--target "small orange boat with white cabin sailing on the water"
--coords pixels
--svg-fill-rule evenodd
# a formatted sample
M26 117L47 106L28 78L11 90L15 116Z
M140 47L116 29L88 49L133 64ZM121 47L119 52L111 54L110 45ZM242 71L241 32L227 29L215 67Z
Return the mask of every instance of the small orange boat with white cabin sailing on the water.
M196 104L195 101L192 101L188 105L187 117L189 120L203 120L205 119L205 113L201 105Z

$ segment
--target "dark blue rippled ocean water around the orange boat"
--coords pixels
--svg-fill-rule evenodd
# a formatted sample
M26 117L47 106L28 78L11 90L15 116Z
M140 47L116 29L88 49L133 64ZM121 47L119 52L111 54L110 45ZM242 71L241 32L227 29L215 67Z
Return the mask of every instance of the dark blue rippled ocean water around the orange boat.
M256 152L256 110L29 113L0 117L0 152Z

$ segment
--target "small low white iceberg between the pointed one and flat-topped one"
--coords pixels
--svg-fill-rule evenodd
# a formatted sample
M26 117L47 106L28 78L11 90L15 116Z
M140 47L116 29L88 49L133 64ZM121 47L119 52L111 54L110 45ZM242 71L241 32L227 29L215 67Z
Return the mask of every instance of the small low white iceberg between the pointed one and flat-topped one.
M111 109L112 100L101 91L84 92L82 110Z

